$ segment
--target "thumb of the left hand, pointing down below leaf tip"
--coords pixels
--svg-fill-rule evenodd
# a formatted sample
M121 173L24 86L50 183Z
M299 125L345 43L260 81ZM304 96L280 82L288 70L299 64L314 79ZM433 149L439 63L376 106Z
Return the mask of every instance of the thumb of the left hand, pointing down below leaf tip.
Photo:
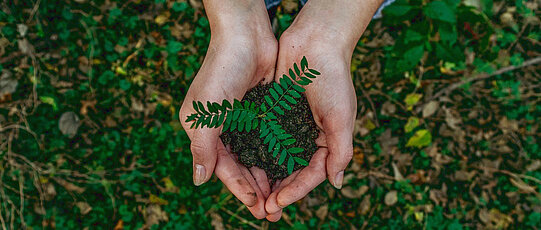
M191 132L190 149L193 157L193 181L196 186L207 182L216 166L218 129L198 129ZM222 144L223 145L223 144Z

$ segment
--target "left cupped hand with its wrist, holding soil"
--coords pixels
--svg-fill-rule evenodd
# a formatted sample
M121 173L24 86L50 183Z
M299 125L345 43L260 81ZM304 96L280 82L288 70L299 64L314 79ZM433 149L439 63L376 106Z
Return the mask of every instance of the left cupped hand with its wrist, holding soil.
M264 204L270 194L265 172L238 164L236 156L220 140L220 129L190 129L191 123L185 120L195 113L192 101L241 99L263 79L272 81L277 42L262 1L209 0L204 4L211 41L179 112L192 141L194 184L205 183L214 172L256 218L265 218Z

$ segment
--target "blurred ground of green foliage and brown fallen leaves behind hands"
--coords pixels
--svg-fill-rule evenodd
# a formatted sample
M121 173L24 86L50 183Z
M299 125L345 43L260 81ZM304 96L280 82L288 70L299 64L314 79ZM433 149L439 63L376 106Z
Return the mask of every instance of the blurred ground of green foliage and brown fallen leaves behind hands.
M177 113L210 39L201 2L3 2L0 225L538 229L538 4L387 8L352 60L359 111L344 188L325 182L269 224L217 179L192 184ZM296 9L279 9L280 31Z

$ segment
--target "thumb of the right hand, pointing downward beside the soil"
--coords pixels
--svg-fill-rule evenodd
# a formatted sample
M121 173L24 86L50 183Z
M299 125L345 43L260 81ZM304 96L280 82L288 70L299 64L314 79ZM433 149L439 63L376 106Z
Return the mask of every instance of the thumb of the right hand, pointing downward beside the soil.
M342 188L344 170L353 157L353 121L347 116L328 116L323 121L329 156L327 175L329 182L337 189ZM352 119L351 119L352 120Z

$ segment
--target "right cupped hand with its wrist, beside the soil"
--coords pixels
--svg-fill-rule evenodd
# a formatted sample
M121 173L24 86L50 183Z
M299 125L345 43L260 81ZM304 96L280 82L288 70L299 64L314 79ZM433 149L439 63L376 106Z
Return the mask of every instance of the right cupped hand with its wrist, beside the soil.
M379 4L377 1L311 0L280 38L275 79L291 63L306 56L310 68L321 72L306 87L306 97L320 128L319 149L309 166L277 183L267 198L269 221L278 221L284 207L302 199L326 178L342 187L344 170L353 155L353 126L357 111L351 80L351 56Z

